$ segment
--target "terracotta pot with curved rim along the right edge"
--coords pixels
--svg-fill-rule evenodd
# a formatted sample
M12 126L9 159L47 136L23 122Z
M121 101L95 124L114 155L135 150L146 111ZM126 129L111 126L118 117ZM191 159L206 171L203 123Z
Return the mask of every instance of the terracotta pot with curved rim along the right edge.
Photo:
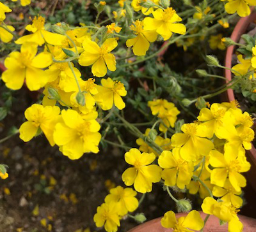
M255 11L253 11L251 13L251 15L249 15L248 17L241 18L237 22L236 27L234 28L234 31L233 31L230 38L233 41L238 42L241 38L241 35L246 32L246 29L247 29L248 25L251 22L254 22L255 20L256 20L256 12ZM234 54L234 52L235 52L235 46L228 47L226 58L225 58L225 66L227 68L232 68L232 55ZM231 71L225 69L225 76L227 78L227 82L229 82L232 79ZM227 95L226 96L227 101L234 101L235 100L234 91L232 89L228 89L228 91L225 92L225 94ZM246 157L252 165L250 171L248 171L246 173L246 177L247 177L248 181L250 182L250 184L252 185L253 189L256 192L256 181L255 181L255 177L256 177L256 149L253 146L253 144L252 144L252 149L251 150L246 150ZM255 229L255 231L256 231L256 229Z

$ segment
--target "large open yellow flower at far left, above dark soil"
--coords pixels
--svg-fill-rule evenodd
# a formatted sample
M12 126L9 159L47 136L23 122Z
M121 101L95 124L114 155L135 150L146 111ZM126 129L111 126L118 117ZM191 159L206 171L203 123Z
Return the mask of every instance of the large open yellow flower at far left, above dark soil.
M10 89L20 89L26 78L26 85L30 91L37 91L48 82L49 77L42 70L52 63L52 56L48 52L37 53L35 43L24 43L20 52L12 52L4 61L7 70L2 79Z

